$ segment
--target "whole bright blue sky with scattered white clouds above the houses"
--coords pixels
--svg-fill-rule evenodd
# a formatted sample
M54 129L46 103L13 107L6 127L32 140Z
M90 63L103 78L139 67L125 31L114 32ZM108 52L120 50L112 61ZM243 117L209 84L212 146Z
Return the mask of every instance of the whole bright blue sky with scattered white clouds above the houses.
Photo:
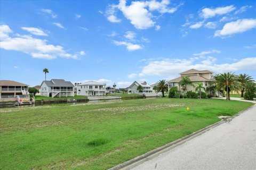
M127 87L189 70L256 79L255 1L0 1L0 79Z

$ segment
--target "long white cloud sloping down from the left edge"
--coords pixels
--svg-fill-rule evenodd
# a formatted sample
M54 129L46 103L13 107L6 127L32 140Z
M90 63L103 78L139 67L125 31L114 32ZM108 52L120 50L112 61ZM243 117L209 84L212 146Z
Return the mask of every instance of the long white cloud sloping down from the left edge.
M45 39L33 38L26 35L10 36L12 30L8 25L0 25L0 33L0 48L6 50L16 50L29 54L33 58L43 58L47 60L51 60L57 57L74 59L78 57L78 54L67 53L62 46L49 44Z

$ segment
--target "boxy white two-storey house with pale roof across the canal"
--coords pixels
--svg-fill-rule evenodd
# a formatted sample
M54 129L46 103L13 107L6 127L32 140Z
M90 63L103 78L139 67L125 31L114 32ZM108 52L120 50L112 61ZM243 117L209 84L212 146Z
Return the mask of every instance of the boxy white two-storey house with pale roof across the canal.
M102 96L106 94L106 84L96 81L87 81L77 84L78 96Z

